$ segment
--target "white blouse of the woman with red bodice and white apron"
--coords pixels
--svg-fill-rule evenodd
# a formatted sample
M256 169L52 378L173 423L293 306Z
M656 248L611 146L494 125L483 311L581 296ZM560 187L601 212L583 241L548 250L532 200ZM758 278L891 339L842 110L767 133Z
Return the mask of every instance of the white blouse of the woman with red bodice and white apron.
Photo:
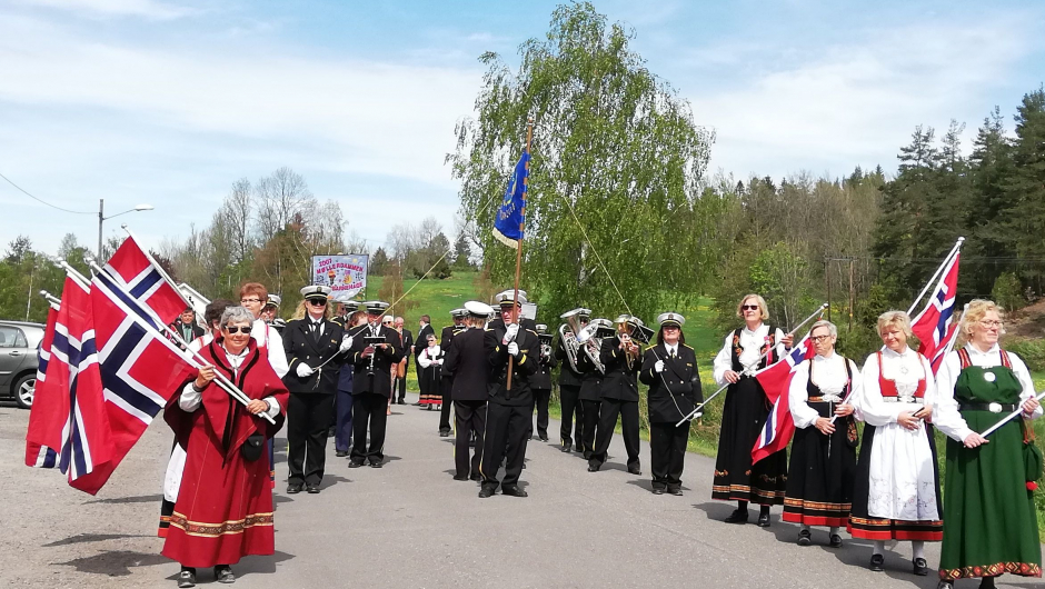
M933 367L927 358L916 350L905 347L904 351L895 352L882 347L882 371L878 371L878 355L872 353L864 362L860 371L864 380L864 395L860 398L860 419L875 427L896 423L900 413L915 412L923 407L933 407L936 399L936 382L933 380ZM886 402L882 396L878 377L892 380L898 395L897 402ZM922 402L915 402L914 395L918 390L918 381L925 379L925 397ZM933 416L933 421L936 416Z

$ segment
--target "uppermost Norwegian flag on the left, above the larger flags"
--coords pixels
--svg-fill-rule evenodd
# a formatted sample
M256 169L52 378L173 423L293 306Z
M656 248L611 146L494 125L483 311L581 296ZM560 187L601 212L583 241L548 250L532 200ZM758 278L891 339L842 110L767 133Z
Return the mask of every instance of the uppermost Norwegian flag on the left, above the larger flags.
M152 309L163 325L170 323L190 307L152 256L138 246L133 236L123 240L106 264L106 271L116 279L120 290Z

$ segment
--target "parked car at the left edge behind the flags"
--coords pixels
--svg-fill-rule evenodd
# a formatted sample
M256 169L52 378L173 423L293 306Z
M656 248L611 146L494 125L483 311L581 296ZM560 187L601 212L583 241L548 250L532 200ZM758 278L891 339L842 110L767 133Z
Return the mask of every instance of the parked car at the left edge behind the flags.
M23 409L32 407L43 329L41 323L0 320L0 398L13 398Z

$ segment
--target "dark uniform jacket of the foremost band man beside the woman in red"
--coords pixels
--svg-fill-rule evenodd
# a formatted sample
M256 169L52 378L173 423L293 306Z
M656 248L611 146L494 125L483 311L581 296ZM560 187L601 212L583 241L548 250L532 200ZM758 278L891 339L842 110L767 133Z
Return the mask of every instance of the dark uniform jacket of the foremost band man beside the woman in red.
M322 336L319 337L317 342L310 333L309 326L312 320L307 317L305 319L295 319L288 322L283 329L283 351L287 352L287 363L290 366L290 370L283 376L283 385L286 385L287 390L297 395L330 395L338 390L338 375L341 365L345 363L348 357L348 352L338 353L345 330L338 323L324 319ZM331 357L335 357L334 360L312 372L308 378L298 377L299 362L317 368Z

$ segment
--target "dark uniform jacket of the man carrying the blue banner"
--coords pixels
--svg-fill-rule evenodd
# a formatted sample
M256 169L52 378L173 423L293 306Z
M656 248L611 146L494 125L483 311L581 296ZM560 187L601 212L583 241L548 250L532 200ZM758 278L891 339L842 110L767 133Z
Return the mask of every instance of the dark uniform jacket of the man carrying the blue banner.
M537 357L540 355L537 332L525 328L519 329L516 337L516 343L519 345L519 357L512 362L511 390L508 390L508 346L501 343L505 340L506 328L502 321L496 327L492 326L494 323L485 331L484 340L489 362L488 388L490 402L508 406L533 405L534 393L530 390L530 377L539 369Z

